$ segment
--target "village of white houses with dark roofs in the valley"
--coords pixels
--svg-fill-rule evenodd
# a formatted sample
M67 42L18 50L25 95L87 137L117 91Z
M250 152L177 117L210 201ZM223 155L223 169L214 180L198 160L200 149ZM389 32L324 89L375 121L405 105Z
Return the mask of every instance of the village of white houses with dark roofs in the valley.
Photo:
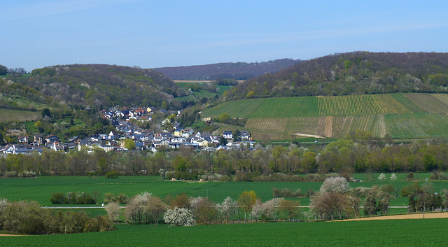
M87 109L88 110L88 109ZM109 151L126 150L150 150L158 152L161 148L177 149L181 146L189 146L195 150L228 150L235 148L253 149L254 141L247 130L232 132L223 131L221 135L212 135L208 132L195 132L191 127L184 128L174 118L165 118L159 123L161 127L169 125L165 130L155 132L144 127L138 127L137 122L152 122L154 113L164 115L177 115L180 111L158 110L156 108L110 108L100 112L102 118L109 120L115 128L108 133L94 134L85 139L78 136L71 137L68 141L61 141L59 137L50 134L34 134L31 136L18 136L18 143L0 147L0 153L42 153L45 149L55 151L87 149L92 152L95 148ZM148 125L147 125L148 126ZM235 134L238 136L235 137ZM131 143L127 146L126 143Z

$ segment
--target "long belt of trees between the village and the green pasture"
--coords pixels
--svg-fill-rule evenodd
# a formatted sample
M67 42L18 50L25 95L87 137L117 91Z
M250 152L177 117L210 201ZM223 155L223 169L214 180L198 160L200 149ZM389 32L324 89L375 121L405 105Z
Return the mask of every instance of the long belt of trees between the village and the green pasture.
M44 150L41 155L0 158L3 176L19 176L25 171L75 176L104 175L107 171L128 175L160 174L160 169L166 178L208 179L207 176L212 174L216 176L212 180L234 181L288 179L279 173L447 171L448 144L415 141L384 146L339 140L314 148L257 146L255 150L218 150L212 153L183 147L154 154L139 151L105 153L101 149L93 153L87 153L87 150L71 153Z

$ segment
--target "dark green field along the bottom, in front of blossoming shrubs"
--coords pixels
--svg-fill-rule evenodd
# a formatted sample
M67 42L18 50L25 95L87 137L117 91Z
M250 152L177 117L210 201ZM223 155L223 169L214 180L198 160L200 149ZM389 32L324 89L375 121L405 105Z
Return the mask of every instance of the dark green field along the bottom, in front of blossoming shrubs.
M1 246L444 246L448 220L374 220L166 227L0 237Z

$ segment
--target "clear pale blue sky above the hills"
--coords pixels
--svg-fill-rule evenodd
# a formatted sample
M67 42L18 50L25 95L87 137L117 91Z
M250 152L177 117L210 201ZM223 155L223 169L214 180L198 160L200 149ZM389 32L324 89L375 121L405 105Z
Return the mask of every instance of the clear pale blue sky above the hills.
M448 1L15 0L0 6L0 64L156 68L448 52Z

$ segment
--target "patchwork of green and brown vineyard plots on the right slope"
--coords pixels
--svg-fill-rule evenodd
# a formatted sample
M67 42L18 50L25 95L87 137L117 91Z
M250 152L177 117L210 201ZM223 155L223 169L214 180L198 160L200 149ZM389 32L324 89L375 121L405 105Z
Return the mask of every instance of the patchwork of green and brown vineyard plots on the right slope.
M447 138L448 94L363 94L229 101L202 117L247 118L253 139L332 138L362 129L374 137Z

